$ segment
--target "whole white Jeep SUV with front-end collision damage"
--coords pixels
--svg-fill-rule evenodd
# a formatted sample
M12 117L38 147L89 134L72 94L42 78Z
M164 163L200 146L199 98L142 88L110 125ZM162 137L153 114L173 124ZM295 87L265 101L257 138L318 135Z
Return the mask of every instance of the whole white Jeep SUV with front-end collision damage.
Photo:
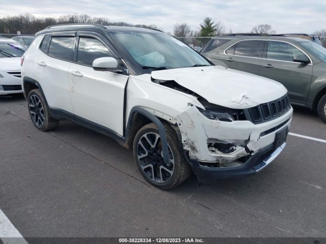
M160 189L259 172L283 150L292 108L273 80L214 66L172 36L70 24L36 34L22 64L34 125L61 119L132 149Z

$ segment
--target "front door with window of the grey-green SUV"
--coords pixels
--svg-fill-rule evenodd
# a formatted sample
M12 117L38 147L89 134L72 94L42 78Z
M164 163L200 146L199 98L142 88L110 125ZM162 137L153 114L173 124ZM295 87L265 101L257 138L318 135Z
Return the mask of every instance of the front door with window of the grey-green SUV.
M268 41L260 75L279 81L287 89L292 103L306 105L312 78L312 62L293 62L293 58L310 57L294 45L284 41Z

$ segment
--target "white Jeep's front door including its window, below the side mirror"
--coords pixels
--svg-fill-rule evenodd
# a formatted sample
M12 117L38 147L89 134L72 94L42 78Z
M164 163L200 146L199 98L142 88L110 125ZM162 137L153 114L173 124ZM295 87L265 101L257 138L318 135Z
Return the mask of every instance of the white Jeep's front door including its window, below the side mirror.
M94 59L114 57L103 38L80 34L77 42L74 64L69 68L74 114L122 136L124 88L128 76L93 69Z

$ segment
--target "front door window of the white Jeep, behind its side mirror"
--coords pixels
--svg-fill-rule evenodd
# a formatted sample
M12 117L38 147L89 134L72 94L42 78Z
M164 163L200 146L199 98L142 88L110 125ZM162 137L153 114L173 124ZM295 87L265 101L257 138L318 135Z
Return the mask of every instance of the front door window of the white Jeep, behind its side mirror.
M93 61L99 57L113 57L113 54L99 40L90 37L80 37L77 63L93 66Z

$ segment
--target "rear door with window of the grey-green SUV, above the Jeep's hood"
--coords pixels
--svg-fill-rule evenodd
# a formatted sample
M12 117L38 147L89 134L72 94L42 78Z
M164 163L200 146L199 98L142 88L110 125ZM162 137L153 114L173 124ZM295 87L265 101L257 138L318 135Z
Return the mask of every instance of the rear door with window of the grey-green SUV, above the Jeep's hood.
M264 40L239 41L221 54L221 62L226 67L259 75Z

